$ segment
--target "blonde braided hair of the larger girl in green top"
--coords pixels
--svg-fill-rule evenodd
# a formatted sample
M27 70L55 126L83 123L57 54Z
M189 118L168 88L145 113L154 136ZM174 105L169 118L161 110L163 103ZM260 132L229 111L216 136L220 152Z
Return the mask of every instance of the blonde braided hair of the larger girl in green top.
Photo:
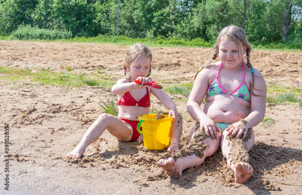
M254 88L254 70L253 70L253 66L250 62L250 52L252 51L252 47L251 44L249 43L249 41L246 38L246 33L244 32L244 30L238 26L228 26L223 28L216 40L216 43L214 44L214 53L213 53L213 58L210 59L210 61L205 64L204 66L201 66L200 69L198 69L198 72L196 73L195 77L194 77L194 81L198 75L198 73L204 69L204 68L208 68L210 66L210 63L213 62L213 60L215 60L218 55L219 55L219 46L220 46L220 42L222 40L230 40L233 41L234 43L236 43L238 49L240 49L239 47L239 43L242 44L243 47L246 47L246 65L249 69L251 69L251 73L252 73L252 84L251 84L251 94L253 96L259 96L254 94L253 89ZM256 90L256 89L255 89Z

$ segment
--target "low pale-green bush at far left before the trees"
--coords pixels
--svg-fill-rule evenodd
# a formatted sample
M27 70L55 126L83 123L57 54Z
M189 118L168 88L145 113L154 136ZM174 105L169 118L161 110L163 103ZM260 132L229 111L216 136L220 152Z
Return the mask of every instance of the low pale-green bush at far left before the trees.
M58 40L70 39L72 34L67 30L49 30L40 29L38 27L31 27L30 24L21 24L11 34L12 39L25 39L25 40Z

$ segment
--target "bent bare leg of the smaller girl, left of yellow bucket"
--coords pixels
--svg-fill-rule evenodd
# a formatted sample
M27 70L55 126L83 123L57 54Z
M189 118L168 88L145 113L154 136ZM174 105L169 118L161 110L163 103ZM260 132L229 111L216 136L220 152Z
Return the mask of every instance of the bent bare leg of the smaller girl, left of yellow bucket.
M123 121L115 116L103 113L89 127L76 148L69 152L66 157L71 159L81 158L88 145L97 140L105 129L107 129L111 135L115 136L121 141L129 141L132 136L132 129L125 125Z

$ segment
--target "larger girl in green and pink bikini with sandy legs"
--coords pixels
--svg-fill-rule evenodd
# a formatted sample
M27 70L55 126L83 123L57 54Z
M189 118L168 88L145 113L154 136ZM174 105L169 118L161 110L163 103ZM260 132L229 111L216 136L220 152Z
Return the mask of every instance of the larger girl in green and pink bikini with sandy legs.
M250 63L251 50L242 28L228 26L220 31L214 56L198 70L187 105L188 113L199 123L191 130L190 144L200 147L201 154L193 151L182 158L160 159L158 165L170 175L182 176L184 169L201 165L220 148L235 182L247 183L253 173L248 155L255 141L252 127L264 118L266 102L266 84ZM211 64L218 55L220 61Z

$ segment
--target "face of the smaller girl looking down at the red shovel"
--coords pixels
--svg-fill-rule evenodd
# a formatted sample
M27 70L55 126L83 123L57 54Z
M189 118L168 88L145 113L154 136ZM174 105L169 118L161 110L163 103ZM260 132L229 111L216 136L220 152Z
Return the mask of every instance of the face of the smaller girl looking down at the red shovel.
M138 77L147 77L150 70L151 59L149 57L139 57L131 62L130 67L127 67L127 71L130 72L130 79L135 80Z

